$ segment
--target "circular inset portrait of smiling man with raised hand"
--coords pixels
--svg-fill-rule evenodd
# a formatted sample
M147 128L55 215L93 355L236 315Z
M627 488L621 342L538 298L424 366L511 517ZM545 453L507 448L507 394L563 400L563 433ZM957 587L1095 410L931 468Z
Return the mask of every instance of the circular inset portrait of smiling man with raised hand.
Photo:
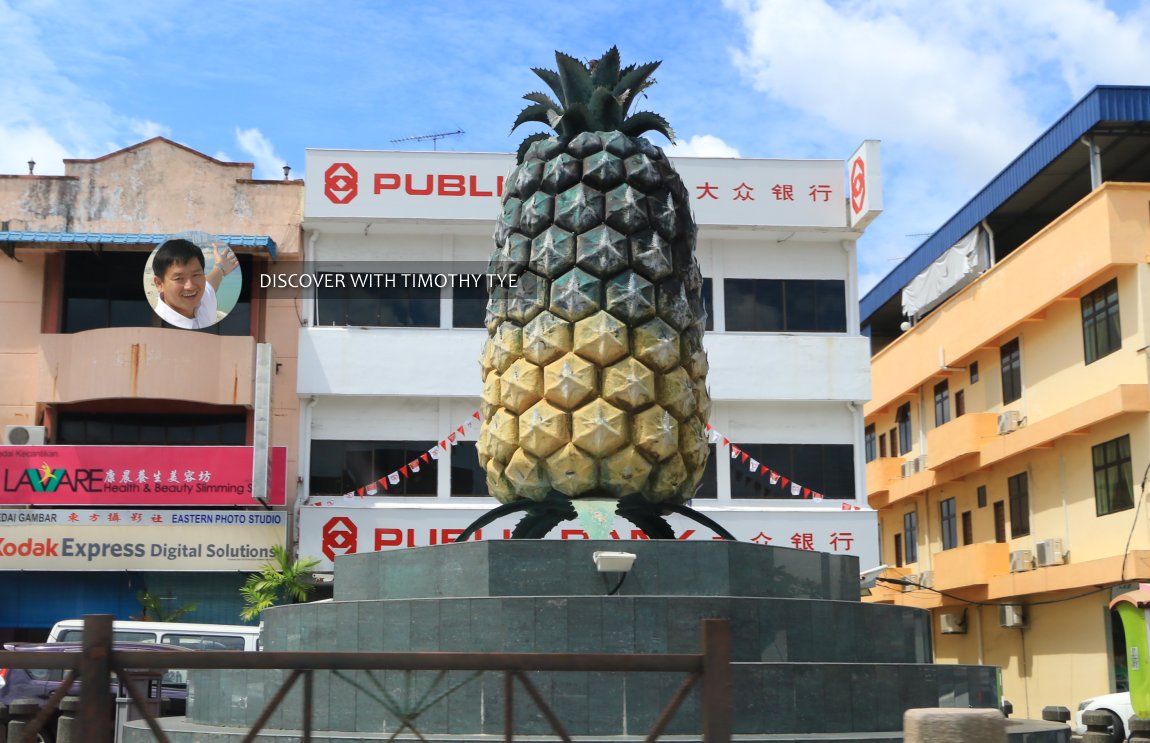
M144 293L169 325L199 330L228 316L243 288L239 259L207 232L179 232L160 243L144 267Z

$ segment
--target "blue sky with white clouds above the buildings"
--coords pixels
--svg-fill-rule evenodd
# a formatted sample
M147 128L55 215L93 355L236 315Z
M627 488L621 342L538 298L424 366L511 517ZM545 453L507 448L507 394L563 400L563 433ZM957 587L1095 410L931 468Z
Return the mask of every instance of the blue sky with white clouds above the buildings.
M643 107L677 154L845 159L882 140L866 291L1092 86L1150 84L1150 3L0 0L0 173L156 135L266 178L301 176L307 147L455 130L439 150L508 152L542 86L530 68L612 45L662 60Z

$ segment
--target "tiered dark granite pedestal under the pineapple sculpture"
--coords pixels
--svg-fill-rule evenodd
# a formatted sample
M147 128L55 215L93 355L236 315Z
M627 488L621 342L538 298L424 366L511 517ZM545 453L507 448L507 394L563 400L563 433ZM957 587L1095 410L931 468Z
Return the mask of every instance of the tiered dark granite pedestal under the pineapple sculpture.
M598 550L637 554L614 596L607 593L619 575L596 570ZM492 541L350 554L336 560L335 600L264 613L263 645L698 652L700 621L720 618L731 627L736 740L898 741L907 708L997 705L994 667L930 664L930 615L860 603L858 574L856 558L736 542ZM193 671L187 718L164 727L174 742L239 741L284 676ZM447 689L454 690L415 723L425 740L500 740L503 674L435 679L317 673L313 740L385 741L399 727L396 703L409 706ZM568 672L531 680L576 738L624 741L646 735L683 677ZM300 694L289 695L259 740L298 737ZM381 704L383 696L392 702ZM1012 728L1012 740L1027 743L1070 740L1066 726ZM700 729L696 688L664 740L699 740ZM515 733L522 741L555 740L523 691ZM148 740L139 723L125 729L128 743Z

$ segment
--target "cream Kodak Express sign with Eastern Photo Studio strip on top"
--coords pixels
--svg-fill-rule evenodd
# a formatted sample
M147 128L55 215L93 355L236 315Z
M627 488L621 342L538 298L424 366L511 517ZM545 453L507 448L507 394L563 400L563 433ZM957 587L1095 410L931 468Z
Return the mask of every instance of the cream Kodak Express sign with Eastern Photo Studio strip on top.
M282 511L0 508L5 570L259 570Z

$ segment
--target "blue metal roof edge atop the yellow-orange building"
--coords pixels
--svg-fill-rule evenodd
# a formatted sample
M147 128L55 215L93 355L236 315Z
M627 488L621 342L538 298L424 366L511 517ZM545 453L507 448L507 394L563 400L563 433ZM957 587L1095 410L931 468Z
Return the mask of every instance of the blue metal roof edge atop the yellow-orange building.
M1150 121L1150 87L1099 85L988 183L859 301L862 324L927 266L1101 122ZM1081 146L1081 145L1078 145Z

